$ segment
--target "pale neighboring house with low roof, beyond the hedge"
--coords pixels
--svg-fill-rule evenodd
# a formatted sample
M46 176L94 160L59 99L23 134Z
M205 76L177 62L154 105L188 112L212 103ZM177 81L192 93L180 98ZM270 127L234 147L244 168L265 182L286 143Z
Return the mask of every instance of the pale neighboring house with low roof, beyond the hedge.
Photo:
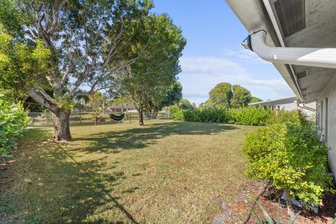
M258 107L258 106L270 106L274 108L278 106L279 109L284 109L285 111L300 110L309 118L315 118L316 116L316 102L309 104L298 104L297 97L289 97L283 99L273 99L262 102L256 102L248 104L248 106Z

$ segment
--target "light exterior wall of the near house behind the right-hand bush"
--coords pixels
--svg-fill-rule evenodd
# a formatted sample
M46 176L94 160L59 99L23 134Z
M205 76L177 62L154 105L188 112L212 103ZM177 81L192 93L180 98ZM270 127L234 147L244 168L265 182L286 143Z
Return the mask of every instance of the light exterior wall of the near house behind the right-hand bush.
M316 109L318 111L316 123L322 128L321 134L325 145L331 148L328 160L336 179L336 78L333 78L318 97Z

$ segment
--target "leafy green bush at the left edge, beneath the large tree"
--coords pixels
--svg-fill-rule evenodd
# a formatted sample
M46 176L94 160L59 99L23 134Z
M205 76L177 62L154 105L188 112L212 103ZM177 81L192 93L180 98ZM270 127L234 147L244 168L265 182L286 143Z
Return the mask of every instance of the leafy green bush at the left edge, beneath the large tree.
M0 96L0 157L10 158L29 118L21 104L10 104Z

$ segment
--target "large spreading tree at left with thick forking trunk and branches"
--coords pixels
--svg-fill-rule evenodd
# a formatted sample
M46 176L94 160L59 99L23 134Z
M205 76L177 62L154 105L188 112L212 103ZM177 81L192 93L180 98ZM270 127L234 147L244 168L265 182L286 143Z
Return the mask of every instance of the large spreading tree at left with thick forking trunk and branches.
M78 95L113 86L141 57L133 34L151 1L0 1L0 89L22 90L55 115L55 140L69 140ZM147 40L149 41L149 40ZM125 60L125 52L138 52ZM79 92L86 86L87 92ZM50 94L51 92L51 94Z

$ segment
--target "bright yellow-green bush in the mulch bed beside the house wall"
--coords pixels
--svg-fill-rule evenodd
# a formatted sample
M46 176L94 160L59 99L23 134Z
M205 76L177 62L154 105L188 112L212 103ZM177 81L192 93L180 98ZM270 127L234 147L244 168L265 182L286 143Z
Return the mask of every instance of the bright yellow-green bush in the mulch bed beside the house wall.
M243 151L248 176L269 181L307 205L320 204L332 177L328 175L328 148L320 141L318 128L300 111L281 113L271 121L246 136Z

